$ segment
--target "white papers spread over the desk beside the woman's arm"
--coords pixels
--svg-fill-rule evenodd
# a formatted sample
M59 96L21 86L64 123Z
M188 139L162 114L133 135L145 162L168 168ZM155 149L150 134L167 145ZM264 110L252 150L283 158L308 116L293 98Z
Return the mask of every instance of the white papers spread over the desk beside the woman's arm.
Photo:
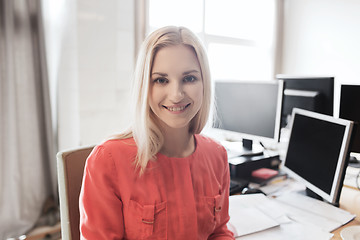
M235 233L236 239L241 240L329 240L333 236L331 231L354 216L328 203L315 202L313 205L311 201L315 199L309 200L307 204L313 209L307 211L304 210L306 203L300 204L299 201L308 197L295 197L297 200L291 200L287 194L275 199L263 194L230 196L229 229ZM316 204L320 204L321 209ZM330 211L325 214L330 218L321 215L324 209Z

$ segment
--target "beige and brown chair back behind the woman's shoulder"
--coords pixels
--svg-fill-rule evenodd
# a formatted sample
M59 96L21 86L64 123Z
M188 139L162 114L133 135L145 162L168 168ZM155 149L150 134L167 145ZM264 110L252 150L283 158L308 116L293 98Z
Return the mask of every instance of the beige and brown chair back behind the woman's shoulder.
M81 147L56 155L62 239L80 239L79 195L85 162L93 148Z

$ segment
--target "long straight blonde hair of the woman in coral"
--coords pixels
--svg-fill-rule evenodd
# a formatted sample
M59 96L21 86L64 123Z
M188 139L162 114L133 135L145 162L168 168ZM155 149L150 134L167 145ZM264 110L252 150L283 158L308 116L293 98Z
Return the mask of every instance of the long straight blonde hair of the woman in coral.
M161 129L156 124L155 114L149 106L150 75L154 57L160 49L180 44L190 47L196 54L204 87L202 106L191 120L189 131L193 134L200 133L209 117L212 102L211 78L202 43L185 27L168 26L154 31L143 42L136 62L133 82L134 122L127 132L117 136L120 139L134 138L137 145L135 165L139 168L140 174L144 172L148 161L155 159L164 142Z

